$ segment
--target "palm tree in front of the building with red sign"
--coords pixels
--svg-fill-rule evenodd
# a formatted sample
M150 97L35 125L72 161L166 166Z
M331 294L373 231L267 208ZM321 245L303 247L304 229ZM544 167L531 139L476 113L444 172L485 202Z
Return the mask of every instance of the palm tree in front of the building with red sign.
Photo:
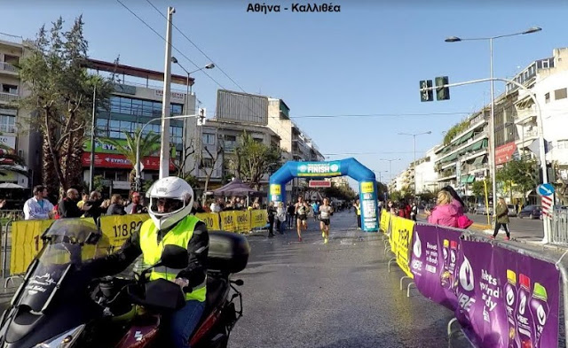
M142 129L138 128L134 134L123 131L122 134L126 135L126 143L117 139L100 140L102 143L113 145L116 151L119 151L122 156L130 161L132 170L130 171L129 181L133 184L136 181L136 141ZM140 137L140 160L146 156L150 156L160 146L160 139L162 135L156 134L152 131Z

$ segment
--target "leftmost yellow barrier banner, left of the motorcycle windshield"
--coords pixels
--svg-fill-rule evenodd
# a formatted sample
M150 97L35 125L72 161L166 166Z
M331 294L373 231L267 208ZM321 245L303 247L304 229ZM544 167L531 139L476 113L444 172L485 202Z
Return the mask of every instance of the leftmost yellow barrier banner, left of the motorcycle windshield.
M54 220L18 220L12 222L12 252L10 253L10 274L26 272L29 264L42 250L41 236Z

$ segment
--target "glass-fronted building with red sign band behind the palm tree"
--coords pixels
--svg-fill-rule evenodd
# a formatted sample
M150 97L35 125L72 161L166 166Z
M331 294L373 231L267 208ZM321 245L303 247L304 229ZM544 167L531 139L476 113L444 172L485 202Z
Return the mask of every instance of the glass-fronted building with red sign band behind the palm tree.
M142 135L150 132L162 132L162 97L163 89L159 85L163 81L163 72L148 70L141 67L127 66L116 62L106 62L89 59L89 67L94 73L108 75L114 73L114 92L110 97L110 110L97 111L97 137L95 140L95 170L94 175L102 176L108 183L109 189L117 193L128 193L130 189L129 175L133 164L113 145L106 143L114 139L118 143L126 143L126 134L135 134L143 129ZM170 115L193 114L195 95L186 95L185 88L179 85L187 83L187 77L172 74L172 89L170 91ZM193 84L190 79L189 83ZM194 120L194 119L193 119ZM170 172L175 166L173 161L181 156L184 137L190 132L186 127L187 120L170 120L170 143L175 151L170 157ZM160 170L160 143L156 143L156 151L141 159L142 178L147 181L158 179ZM90 182L91 172L91 140L83 145L83 180Z

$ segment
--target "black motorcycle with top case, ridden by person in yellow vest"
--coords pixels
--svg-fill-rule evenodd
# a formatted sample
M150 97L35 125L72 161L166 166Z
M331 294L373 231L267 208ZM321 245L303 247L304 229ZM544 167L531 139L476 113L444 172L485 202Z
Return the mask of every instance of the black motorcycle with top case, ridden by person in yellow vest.
M184 295L177 284L150 282L146 275L153 267L183 268L184 248L168 245L158 264L134 278L92 279L84 266L111 250L94 223L56 220L42 240L42 250L0 320L1 348L164 346L162 318L185 305ZM247 266L248 251L244 236L209 232L206 306L192 347L226 347L242 315L241 292L235 288L242 281L232 281L231 275Z

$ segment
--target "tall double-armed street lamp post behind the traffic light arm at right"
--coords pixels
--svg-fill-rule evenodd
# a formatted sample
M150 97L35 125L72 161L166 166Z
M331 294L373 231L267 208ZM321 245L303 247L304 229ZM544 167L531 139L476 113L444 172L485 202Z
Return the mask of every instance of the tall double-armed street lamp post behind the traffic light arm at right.
M491 171L491 178L493 181L493 207L496 205L497 202L497 181L495 180L496 170L495 170L495 121L494 121L494 112L495 112L495 96L494 96L494 89L493 89L493 40L501 39L502 37L509 37L509 36L517 36L517 35L526 35L526 34L533 34L542 30L540 27L530 27L527 30L519 33L513 33L508 35L498 35L498 36L491 36L491 37L475 37L475 38L460 38L457 36L450 36L446 38L446 43L458 43L461 41L489 41L489 68L490 68L490 79L491 79L491 116L489 120L489 170ZM546 159L540 159L545 161ZM546 170L545 170L546 172ZM546 173L542 174L543 177Z

